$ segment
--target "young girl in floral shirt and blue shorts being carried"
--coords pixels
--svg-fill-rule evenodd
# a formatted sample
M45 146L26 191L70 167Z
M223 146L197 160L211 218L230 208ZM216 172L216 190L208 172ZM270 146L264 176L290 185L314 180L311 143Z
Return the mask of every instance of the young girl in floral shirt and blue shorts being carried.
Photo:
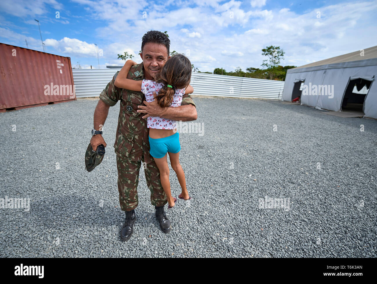
M157 100L161 107L177 107L182 103L184 94L193 92L190 86L192 65L189 58L182 54L176 54L169 58L161 71L152 80L131 80L127 79L127 74L132 65L137 64L132 60L127 60L123 68L115 79L115 86L130 91L141 91L148 102ZM157 96L153 97L153 92ZM167 153L170 164L177 174L182 192L178 198L189 200L189 192L186 188L185 174L179 163L179 133L177 132L177 122L163 117L148 117L147 127L149 128L150 155L156 162L160 172L161 185L167 196L168 208L172 208L177 200L172 197L169 182L169 166L167 163Z

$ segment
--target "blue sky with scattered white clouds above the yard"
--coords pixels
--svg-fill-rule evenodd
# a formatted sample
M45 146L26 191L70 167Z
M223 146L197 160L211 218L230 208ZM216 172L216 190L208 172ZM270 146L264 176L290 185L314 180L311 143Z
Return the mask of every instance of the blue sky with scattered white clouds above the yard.
M57 13L59 12L59 18ZM0 42L68 56L72 66L123 65L141 37L167 31L170 50L200 71L261 68L261 49L280 46L281 65L301 66L377 45L377 1L13 0L0 2ZM318 17L320 15L320 17Z

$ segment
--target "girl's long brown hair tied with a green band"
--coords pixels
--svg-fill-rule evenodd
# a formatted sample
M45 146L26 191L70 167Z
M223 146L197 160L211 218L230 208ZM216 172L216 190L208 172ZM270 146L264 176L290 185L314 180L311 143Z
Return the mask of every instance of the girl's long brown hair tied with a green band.
M166 61L155 78L157 83L164 84L156 97L161 107L171 106L176 89L186 88L190 84L191 71L191 62L183 54L173 55Z

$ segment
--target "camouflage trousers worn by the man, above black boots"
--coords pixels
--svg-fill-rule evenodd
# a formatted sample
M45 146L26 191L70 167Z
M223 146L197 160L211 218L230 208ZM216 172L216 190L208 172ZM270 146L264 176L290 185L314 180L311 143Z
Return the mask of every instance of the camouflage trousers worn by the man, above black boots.
M147 186L150 190L150 202L153 206L164 206L167 196L161 186L160 172L155 161L149 164L143 161ZM116 155L116 167L118 168L119 203L123 211L130 211L138 206L137 187L139 183L139 171L141 161L131 161L126 157Z

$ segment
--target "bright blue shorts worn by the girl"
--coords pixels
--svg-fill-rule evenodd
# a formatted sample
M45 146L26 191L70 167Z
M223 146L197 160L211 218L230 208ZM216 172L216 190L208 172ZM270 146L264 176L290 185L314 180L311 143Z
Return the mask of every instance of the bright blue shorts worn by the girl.
M149 137L149 146L149 153L153 158L163 158L167 152L178 153L181 150L179 133L158 139Z

